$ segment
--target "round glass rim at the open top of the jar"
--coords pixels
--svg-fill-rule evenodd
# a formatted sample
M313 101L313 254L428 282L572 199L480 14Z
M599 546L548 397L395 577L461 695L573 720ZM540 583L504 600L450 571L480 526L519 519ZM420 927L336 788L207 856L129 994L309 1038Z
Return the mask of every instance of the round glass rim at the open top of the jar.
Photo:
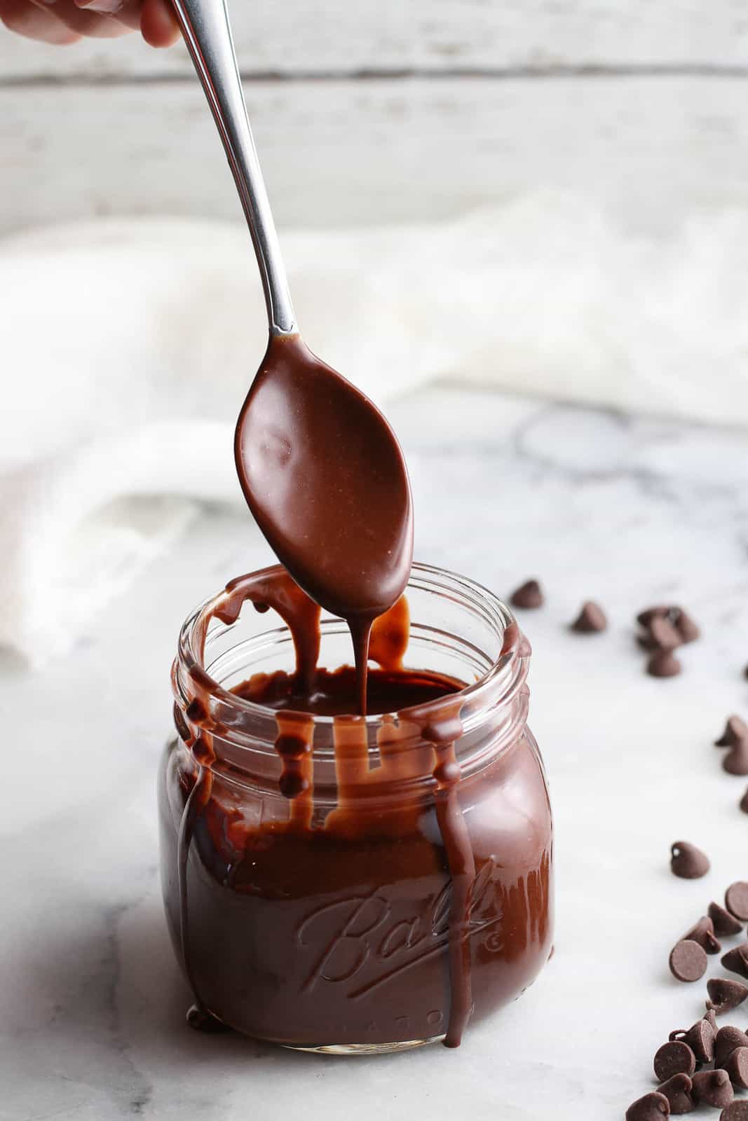
M257 577L273 576L281 571L281 565L276 564L259 569L251 575ZM419 581L422 582L421 584L418 583ZM236 581L232 583L236 584ZM469 703L469 707L472 711L480 712L486 705L490 704L495 706L501 704L514 695L516 689L524 683L526 663L532 651L529 642L521 633L509 606L495 595L493 592L478 583L478 581L435 565L414 562L408 585L406 586L406 594L407 589L412 585L414 587L421 586L431 592L437 592L441 587L447 594L453 593L453 597L454 594L460 595L465 605L479 612L496 629L497 636L500 636L501 639L498 656L492 659L491 665L475 682L467 684L464 688L460 689L456 694L451 694L446 698L438 697L417 705L419 717L427 719L430 714L436 716L440 710L443 708L445 701L454 704L455 697L460 697L464 704ZM277 716L275 708L258 704L256 701L250 701L247 697L239 696L231 689L227 689L205 668L205 645L209 638L209 626L215 620L212 612L220 604L221 596L223 595L225 595L224 590L204 600L191 612L183 623L179 630L178 655L173 675L175 689L178 685L178 669L181 668L181 664L188 675L193 671L197 673L201 687L207 689L211 697L218 703L231 705L238 711L244 712L248 715L251 714L257 719L275 720ZM221 623L219 620L215 620L215 622L220 627L227 627L227 624ZM517 673L510 671L512 666L519 666ZM408 711L415 711L415 707L412 710L401 708L398 715L407 715ZM367 714L359 719L366 722L367 725L376 725L381 722L382 715L385 714ZM335 716L313 715L314 723L322 726L327 725L332 728L336 719Z

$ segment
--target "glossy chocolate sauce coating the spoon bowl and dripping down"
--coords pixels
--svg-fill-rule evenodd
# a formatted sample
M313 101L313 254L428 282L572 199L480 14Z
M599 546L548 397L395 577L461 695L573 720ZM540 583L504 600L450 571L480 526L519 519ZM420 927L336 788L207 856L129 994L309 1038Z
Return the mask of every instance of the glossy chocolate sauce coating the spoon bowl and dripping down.
M403 594L413 563L410 487L395 434L299 335L275 335L242 407L234 454L278 559L348 622L364 714L371 626Z

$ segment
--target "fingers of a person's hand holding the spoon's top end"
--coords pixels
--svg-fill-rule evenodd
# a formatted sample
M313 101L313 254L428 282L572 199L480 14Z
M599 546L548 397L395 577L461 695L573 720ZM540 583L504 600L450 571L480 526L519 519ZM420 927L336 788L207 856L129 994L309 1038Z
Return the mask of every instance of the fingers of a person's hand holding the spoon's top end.
M151 47L168 47L179 36L169 0L0 0L0 21L43 43L111 39L139 30Z

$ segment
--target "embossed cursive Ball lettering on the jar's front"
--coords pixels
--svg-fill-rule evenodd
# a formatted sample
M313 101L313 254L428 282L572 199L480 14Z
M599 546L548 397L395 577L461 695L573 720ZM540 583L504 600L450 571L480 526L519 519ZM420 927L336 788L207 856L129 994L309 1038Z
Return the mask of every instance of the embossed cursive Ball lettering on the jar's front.
M491 890L495 870L491 858L473 881L462 938L477 938L487 932L481 945L497 952L502 937L501 911ZM296 928L303 951L316 952L303 991L312 992L321 982L348 983L348 995L355 1000L445 952L451 907L451 883L427 897L414 917L401 917L401 909L381 888L317 907Z

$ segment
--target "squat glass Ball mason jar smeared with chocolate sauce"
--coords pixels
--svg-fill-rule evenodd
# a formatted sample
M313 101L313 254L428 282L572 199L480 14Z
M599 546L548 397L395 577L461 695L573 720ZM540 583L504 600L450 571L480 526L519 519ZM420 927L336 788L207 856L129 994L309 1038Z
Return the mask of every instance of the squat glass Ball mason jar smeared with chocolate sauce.
M290 671L293 637L265 604L221 621L222 595L182 628L158 790L166 917L202 1022L318 1051L455 1045L551 953L529 643L486 589L414 565L405 665L465 687L417 712L299 717L308 781L287 797L280 714L231 691ZM323 614L321 632L320 665L350 664L345 624Z

